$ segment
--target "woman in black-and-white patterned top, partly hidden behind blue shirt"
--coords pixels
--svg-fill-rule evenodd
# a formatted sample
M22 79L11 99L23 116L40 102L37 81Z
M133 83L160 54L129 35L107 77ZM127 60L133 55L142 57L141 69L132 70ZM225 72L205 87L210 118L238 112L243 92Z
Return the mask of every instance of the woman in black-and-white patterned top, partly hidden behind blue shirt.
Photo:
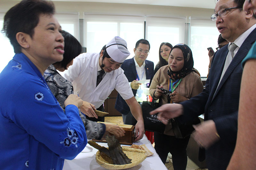
M65 47L64 47L65 53L63 54L63 60L60 62L51 64L44 71L43 76L45 81L47 82L47 85L51 89L52 94L60 103L60 107L65 112L64 102L70 94L74 93L73 85L68 80L63 78L57 70L61 72L64 70L67 70L68 67L73 64L73 59L76 58L76 56L78 56L81 53L82 46L79 43L79 41L77 41L76 38L70 33L63 30L61 30L60 32L65 40ZM83 101L83 103L88 103L88 102ZM114 134L116 137L124 136L124 130L118 125L103 124L103 123L90 121L86 119L85 115L81 113L80 109L79 109L79 115L84 123L87 139L95 138L100 140L106 130Z

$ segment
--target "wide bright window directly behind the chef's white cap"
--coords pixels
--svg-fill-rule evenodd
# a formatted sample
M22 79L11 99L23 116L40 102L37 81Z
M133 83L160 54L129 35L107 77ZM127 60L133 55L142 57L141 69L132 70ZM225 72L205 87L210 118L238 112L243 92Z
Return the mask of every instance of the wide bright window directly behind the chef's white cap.
M111 39L120 36L126 41L131 53L128 58L132 58L135 43L144 38L143 17L85 14L84 18L84 44L87 52L99 53Z

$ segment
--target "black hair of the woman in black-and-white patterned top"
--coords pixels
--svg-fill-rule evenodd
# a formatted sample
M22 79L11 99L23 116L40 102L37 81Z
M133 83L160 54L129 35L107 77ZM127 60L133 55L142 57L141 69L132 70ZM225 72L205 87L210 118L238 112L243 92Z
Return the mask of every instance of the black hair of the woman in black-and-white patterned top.
M76 58L76 56L81 54L82 46L79 43L79 41L77 41L77 39L70 33L66 32L64 30L61 30L60 33L64 37L65 53L63 54L63 60L60 62L56 62L54 64L60 65L61 68L66 69L68 63L70 63L74 58Z

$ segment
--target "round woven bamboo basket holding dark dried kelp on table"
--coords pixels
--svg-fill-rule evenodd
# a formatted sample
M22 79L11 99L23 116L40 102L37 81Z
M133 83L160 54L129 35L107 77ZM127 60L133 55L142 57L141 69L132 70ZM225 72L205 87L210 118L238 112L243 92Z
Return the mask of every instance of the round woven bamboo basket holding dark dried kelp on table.
M139 165L147 158L147 155L145 154L146 152L140 149L123 147L122 150L128 158L132 159L132 163L125 165L114 165L112 159L100 151L96 153L96 162L106 169L126 169Z

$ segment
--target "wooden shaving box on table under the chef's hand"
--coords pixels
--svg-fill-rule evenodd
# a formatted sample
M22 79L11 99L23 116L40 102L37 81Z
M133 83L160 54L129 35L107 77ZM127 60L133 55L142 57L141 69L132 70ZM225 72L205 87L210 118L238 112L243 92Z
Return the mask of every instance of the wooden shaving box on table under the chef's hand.
M108 123L108 122L98 122L98 123L115 124L115 123ZM116 137L116 139L120 142L120 144L132 145L135 137L135 127L133 125L126 125L126 124L117 124L117 125L124 129L125 134L123 137ZM106 131L103 137L101 138L101 140L92 139L92 141L107 143L106 135L113 135L113 134Z

